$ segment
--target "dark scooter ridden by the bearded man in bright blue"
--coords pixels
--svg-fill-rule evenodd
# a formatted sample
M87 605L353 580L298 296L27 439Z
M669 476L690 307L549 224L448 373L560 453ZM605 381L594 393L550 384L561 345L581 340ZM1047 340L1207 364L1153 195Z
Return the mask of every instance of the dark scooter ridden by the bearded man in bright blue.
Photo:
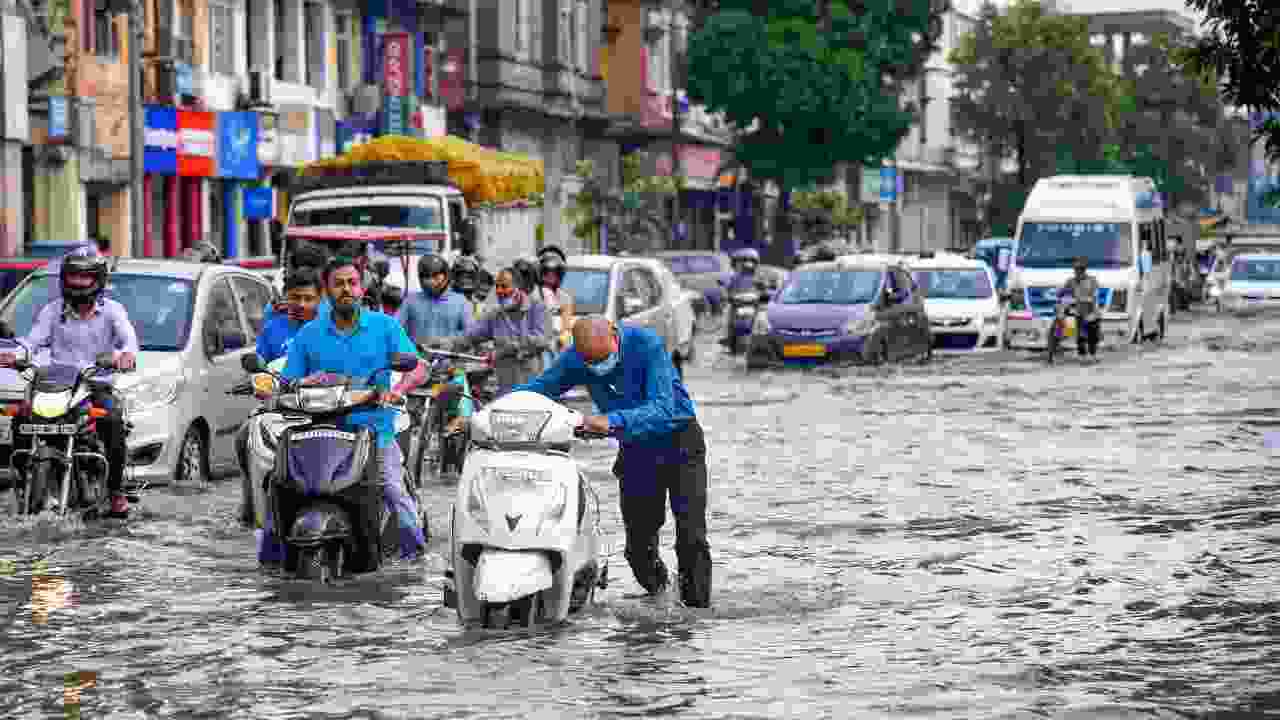
M389 369L408 373L416 366L416 355L394 354ZM329 582L376 570L394 551L399 527L383 502L374 432L343 430L338 423L381 404L381 391L361 386L385 369L361 383L329 373L289 382L252 354L242 359L242 368L255 375L256 391L275 396L284 415L306 419L280 428L266 478L266 506L284 544L284 571ZM406 489L413 493L410 483Z

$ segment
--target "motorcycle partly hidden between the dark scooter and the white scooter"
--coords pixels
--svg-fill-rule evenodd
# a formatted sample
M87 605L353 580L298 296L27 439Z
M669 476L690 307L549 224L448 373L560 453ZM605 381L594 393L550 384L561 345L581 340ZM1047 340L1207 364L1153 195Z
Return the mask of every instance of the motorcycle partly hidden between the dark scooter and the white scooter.
M467 438L465 433L448 433L448 409L436 402L440 393L457 384L461 386L458 397L480 405L489 396L479 388L486 387L493 375L490 357L429 347L420 350L430 364L430 374L421 387L408 393L407 415L413 433L404 452L407 477L417 488L424 487L429 478L462 471L461 460L447 462L447 457L461 457L466 452Z

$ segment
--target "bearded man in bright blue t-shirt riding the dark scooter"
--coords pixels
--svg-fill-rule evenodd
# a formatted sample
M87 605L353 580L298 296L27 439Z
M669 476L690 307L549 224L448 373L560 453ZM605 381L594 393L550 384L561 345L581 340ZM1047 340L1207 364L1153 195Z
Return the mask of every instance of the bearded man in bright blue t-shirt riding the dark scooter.
M426 379L426 364L419 363L404 373L399 384L389 388L392 355L416 355L413 343L394 318L361 306L365 288L361 273L351 258L340 256L325 266L324 282L333 302L328 318L307 323L293 337L288 360L280 373L289 380L300 380L315 373L337 373L353 378L374 378L374 386L384 391L387 404L399 402L404 393ZM404 489L403 462L396 443L396 410L378 407L347 415L344 424L370 428L376 433L375 462L381 465L383 492L387 510L397 519L401 529L401 556L415 557L426 547L417 502ZM268 528L266 534L271 534ZM270 538L274 541L274 537ZM260 552L261 560L274 560L275 553Z

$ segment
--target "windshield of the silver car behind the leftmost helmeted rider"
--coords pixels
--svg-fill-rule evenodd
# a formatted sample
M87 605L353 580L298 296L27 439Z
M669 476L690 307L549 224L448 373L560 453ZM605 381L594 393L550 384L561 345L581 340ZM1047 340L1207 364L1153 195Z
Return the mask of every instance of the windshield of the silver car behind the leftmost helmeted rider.
M36 313L49 304L54 279L50 274L32 278L14 292L0 313L0 320L8 323L18 337L31 332ZM195 306L191 281L113 273L106 295L124 305L138 333L140 350L177 352L187 346Z

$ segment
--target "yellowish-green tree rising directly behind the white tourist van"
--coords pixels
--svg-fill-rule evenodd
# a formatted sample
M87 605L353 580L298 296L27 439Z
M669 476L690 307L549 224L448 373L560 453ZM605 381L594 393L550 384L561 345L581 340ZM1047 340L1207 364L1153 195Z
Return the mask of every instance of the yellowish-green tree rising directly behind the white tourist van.
M1085 18L1046 13L1037 0L1005 13L988 3L948 59L956 135L982 146L991 163L1016 161L1015 178L991 173L993 225L1010 224L1041 173L1102 160L1120 97L1105 56L1089 45Z

